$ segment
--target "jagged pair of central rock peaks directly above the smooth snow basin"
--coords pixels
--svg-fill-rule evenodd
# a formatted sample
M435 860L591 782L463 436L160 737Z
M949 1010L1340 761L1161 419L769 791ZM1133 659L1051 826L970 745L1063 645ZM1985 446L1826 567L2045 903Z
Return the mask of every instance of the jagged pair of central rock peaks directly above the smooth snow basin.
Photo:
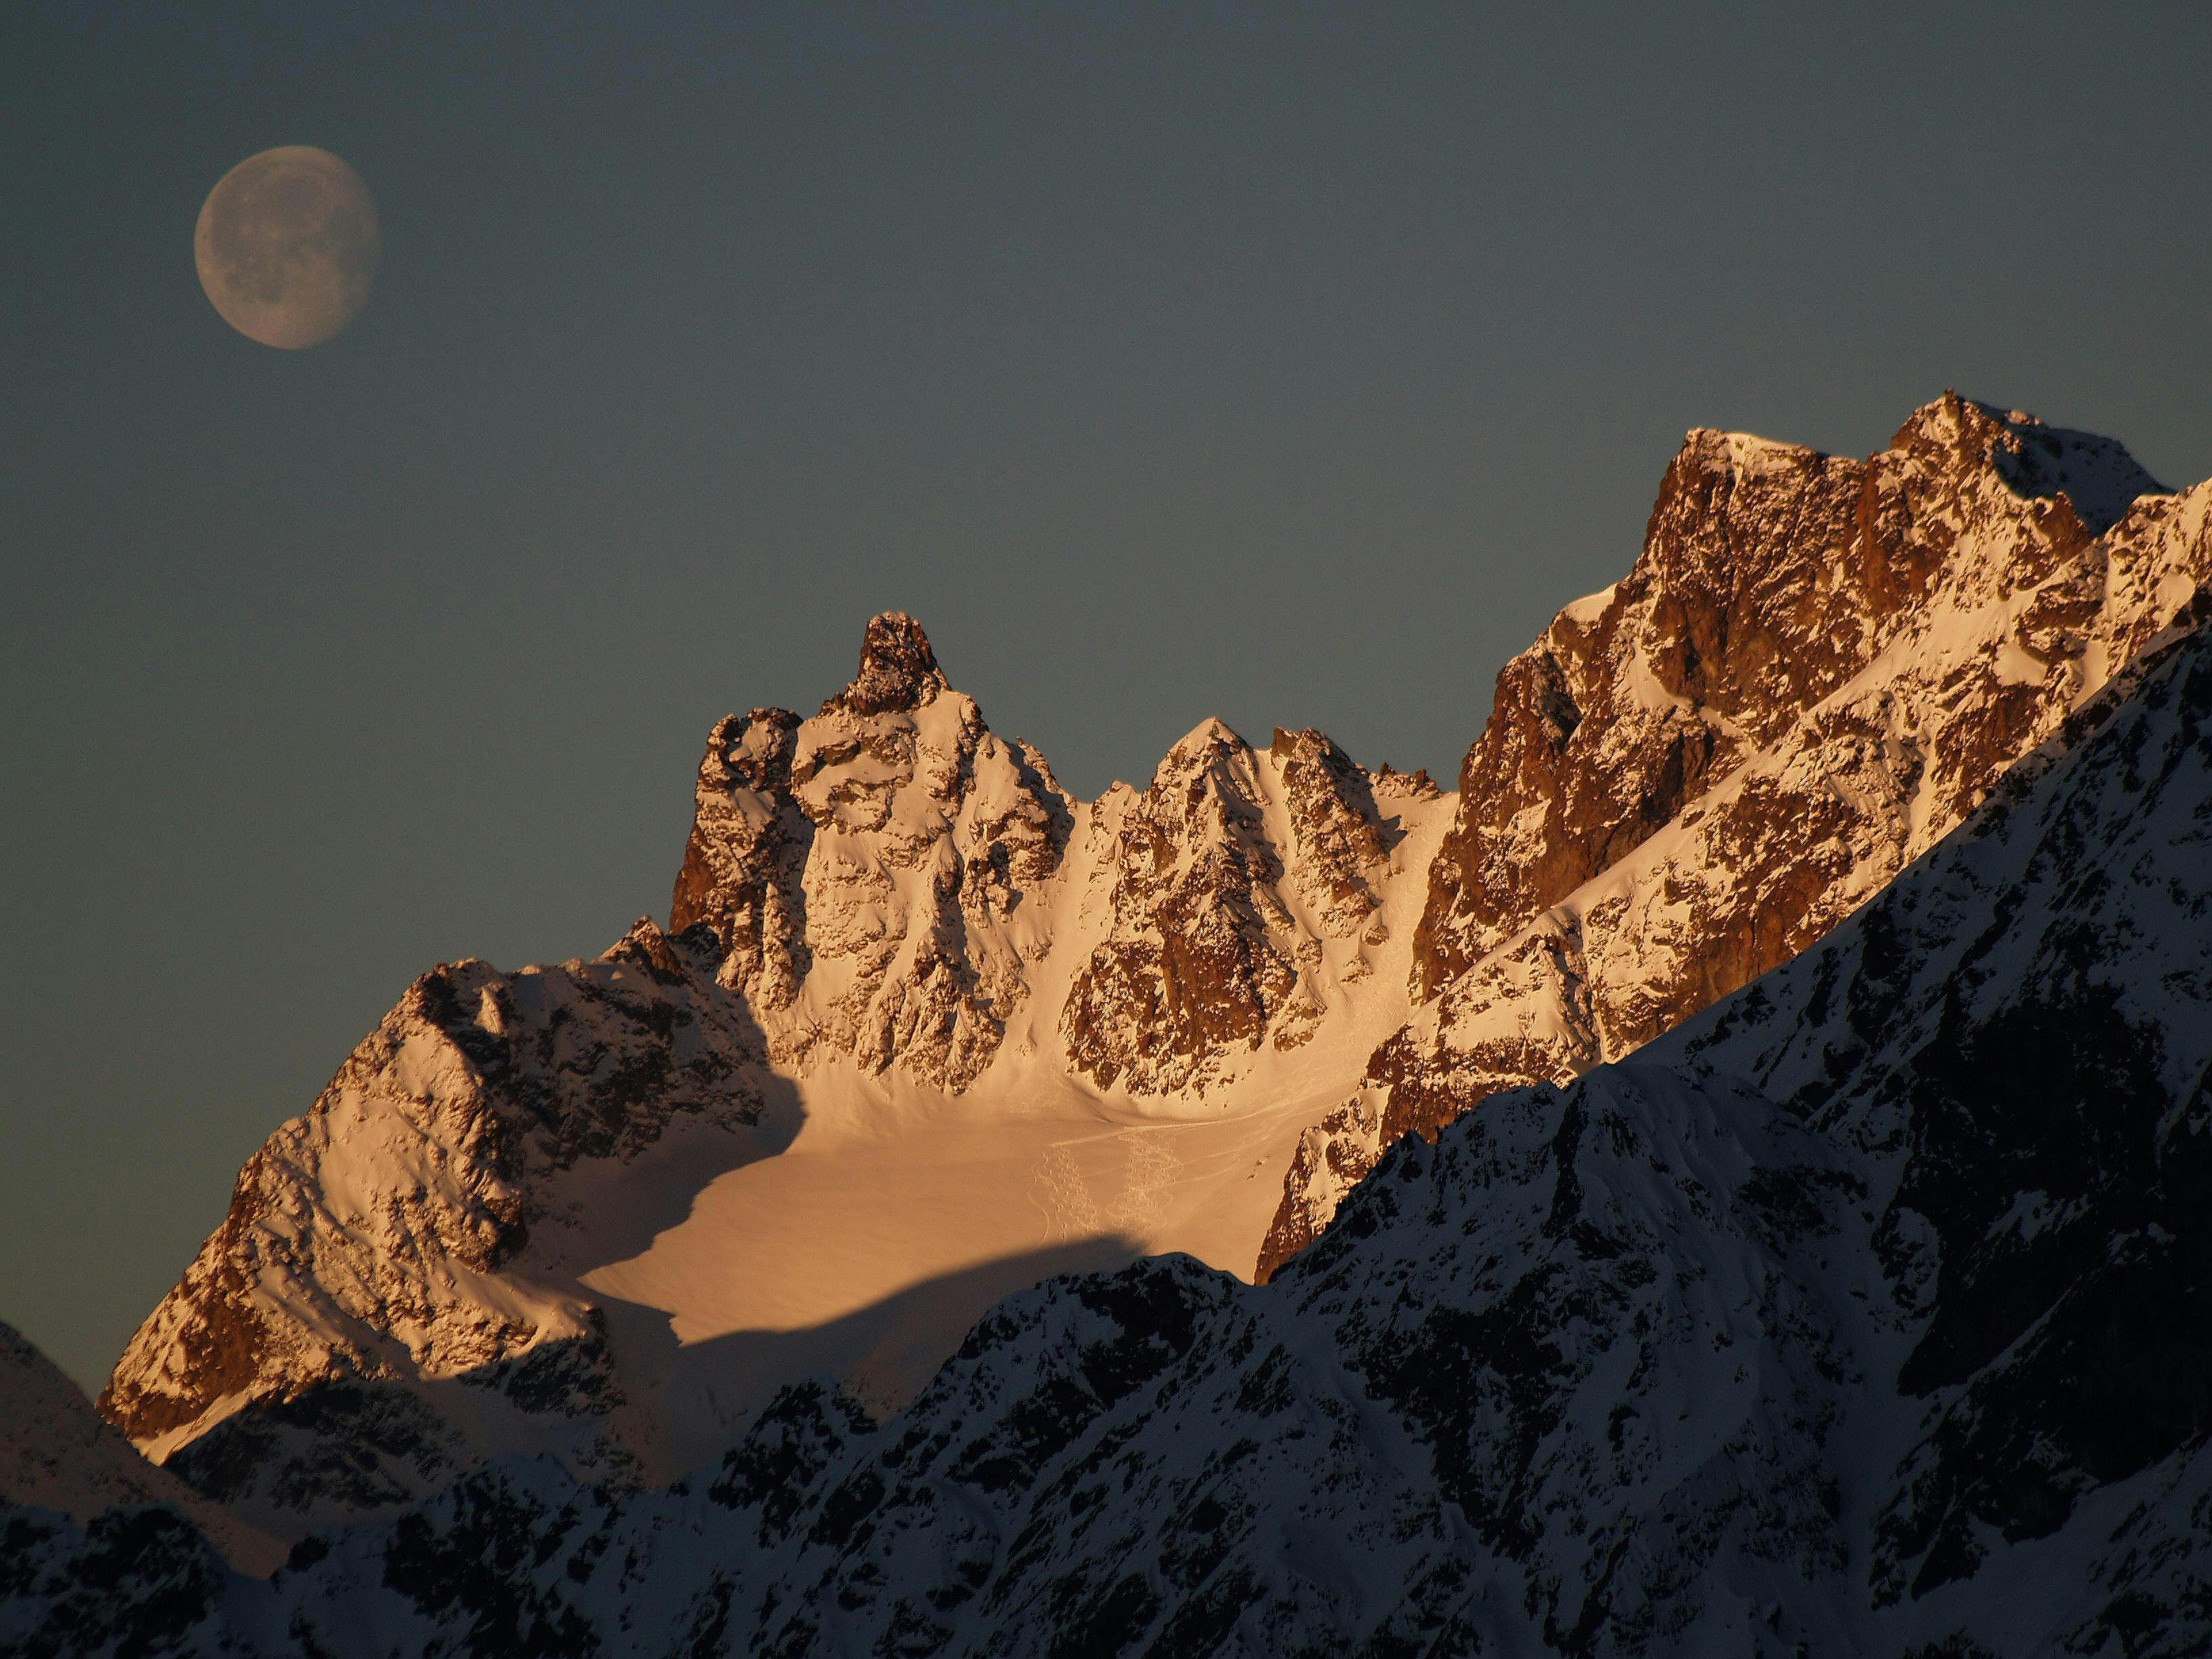
M889 613L814 719L770 708L714 728L670 929L714 933L721 982L779 1064L852 1057L956 1095L1060 951L1066 1064L1168 1095L1312 1033L1323 940L1349 940L1389 878L1389 807L1436 799L1321 732L1276 732L1263 761L1206 721L1146 790L1079 803ZM1102 925L1060 918L1064 889L1095 889ZM1363 975L1356 951L1345 971Z

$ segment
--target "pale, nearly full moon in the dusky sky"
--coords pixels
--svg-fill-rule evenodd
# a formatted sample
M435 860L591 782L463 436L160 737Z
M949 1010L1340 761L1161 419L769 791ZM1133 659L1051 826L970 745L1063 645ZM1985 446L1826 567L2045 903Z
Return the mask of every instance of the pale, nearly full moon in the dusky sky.
M208 303L246 338L285 352L321 345L361 314L380 252L369 186L312 144L239 161L192 230Z

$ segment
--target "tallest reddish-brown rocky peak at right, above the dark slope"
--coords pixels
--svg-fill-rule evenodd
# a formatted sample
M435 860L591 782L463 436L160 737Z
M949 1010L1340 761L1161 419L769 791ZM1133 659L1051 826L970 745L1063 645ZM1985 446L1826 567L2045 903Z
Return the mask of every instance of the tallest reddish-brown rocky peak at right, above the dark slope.
M1498 679L1413 989L1261 1272L1407 1130L1630 1053L1790 960L2212 580L2199 487L1958 396L1865 462L1692 431L1644 557ZM2064 493L2062 493L2064 491Z

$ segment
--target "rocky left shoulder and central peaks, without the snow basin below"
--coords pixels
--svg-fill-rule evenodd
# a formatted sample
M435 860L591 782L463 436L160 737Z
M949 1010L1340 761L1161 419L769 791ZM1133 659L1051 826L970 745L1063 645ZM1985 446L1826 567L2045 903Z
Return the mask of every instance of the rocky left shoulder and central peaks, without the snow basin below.
M577 1279L608 1252L571 1259L604 1228L568 1172L626 1166L677 1115L743 1130L763 1091L836 1066L960 1095L1018 1022L1046 1084L1223 1084L1363 987L1402 998L1407 947L1374 969L1376 909L1394 880L1413 896L1420 863L1394 852L1442 810L1425 776L1369 776L1321 732L1261 754L1219 723L1144 794L1075 803L947 686L911 617L876 617L818 714L714 726L670 933L425 975L248 1164L102 1409L292 1535L493 1449L615 1482L659 1469L666 1425L630 1371L666 1365L626 1358ZM1031 1011L1040 980L1053 1006ZM721 1148L697 1181L772 1150Z

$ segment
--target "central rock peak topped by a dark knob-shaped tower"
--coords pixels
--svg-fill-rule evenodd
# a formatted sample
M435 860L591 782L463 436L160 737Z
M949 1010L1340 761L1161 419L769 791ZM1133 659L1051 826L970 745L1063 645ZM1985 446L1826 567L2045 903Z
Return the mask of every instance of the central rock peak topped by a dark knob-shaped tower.
M1071 801L945 686L922 628L869 622L814 719L723 719L697 799L668 925L714 931L776 1062L975 1082L1048 942L1035 905L1015 914L1060 869Z

